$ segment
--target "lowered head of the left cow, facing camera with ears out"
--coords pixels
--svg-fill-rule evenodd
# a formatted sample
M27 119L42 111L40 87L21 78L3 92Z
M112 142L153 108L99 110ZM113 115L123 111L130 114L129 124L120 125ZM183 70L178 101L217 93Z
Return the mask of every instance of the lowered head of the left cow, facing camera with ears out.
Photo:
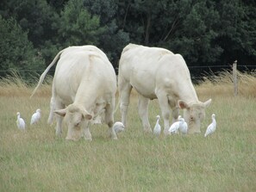
M65 117L68 128L66 139L78 140L83 136L84 127L88 126L92 116L84 109L75 104L66 108L55 110L54 113Z

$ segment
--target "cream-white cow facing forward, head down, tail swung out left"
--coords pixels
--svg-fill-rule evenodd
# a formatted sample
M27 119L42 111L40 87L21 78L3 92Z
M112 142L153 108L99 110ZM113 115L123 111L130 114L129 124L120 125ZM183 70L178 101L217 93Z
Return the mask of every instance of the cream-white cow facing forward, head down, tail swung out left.
M41 74L34 92L47 71L58 61L53 77L51 110L48 123L57 114L56 134L62 133L62 120L68 127L66 139L91 140L89 125L98 115L104 117L113 139L116 73L107 56L96 46L70 46L60 51ZM32 96L34 95L34 92Z

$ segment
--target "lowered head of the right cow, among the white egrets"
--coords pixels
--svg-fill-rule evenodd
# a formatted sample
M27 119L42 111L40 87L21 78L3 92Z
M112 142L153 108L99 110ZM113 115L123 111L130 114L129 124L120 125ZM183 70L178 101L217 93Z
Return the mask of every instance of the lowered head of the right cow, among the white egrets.
M178 101L178 107L184 109L184 120L188 124L188 133L201 133L200 125L205 117L205 108L211 103L211 99L207 102L186 103L182 100Z

